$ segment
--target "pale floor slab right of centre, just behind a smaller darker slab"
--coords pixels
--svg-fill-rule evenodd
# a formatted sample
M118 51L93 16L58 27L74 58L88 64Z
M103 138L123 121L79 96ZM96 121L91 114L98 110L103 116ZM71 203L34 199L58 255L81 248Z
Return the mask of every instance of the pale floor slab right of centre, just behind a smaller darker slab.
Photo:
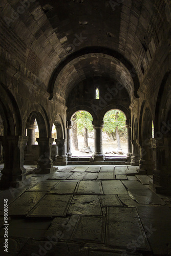
M120 180L101 181L104 195L127 194L127 190Z

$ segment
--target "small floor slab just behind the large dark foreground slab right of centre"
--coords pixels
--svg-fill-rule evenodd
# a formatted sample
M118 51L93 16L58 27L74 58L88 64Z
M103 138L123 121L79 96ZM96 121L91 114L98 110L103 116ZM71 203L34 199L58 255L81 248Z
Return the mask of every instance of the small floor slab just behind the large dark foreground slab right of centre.
M107 206L122 206L119 198L116 195L103 195L99 196L102 207Z

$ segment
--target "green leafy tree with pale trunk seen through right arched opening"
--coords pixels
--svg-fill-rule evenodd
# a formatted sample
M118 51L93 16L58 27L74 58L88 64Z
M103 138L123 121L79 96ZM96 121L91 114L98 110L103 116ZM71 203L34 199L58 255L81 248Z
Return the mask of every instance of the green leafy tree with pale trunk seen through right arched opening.
M114 139L114 135L116 136L117 146L120 147L120 136L119 132L125 131L125 116L119 110L111 110L107 112L104 116L104 128L108 134L112 134Z

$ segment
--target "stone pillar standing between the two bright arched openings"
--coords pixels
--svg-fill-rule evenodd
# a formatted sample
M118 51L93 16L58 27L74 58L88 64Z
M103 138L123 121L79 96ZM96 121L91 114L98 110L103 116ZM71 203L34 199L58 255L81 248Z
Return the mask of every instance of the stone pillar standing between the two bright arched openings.
M94 161L104 161L105 155L102 150L102 129L103 121L92 121L94 129Z

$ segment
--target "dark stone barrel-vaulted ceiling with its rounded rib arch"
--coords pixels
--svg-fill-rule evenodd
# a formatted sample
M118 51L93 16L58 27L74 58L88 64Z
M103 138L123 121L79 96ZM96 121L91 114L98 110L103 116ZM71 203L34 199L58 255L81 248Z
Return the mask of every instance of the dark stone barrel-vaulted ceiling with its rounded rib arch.
M138 97L148 55L159 44L164 0L32 0L18 14L20 2L1 1L0 43L20 70L23 65L44 84L50 99L66 100L90 76L117 80Z

